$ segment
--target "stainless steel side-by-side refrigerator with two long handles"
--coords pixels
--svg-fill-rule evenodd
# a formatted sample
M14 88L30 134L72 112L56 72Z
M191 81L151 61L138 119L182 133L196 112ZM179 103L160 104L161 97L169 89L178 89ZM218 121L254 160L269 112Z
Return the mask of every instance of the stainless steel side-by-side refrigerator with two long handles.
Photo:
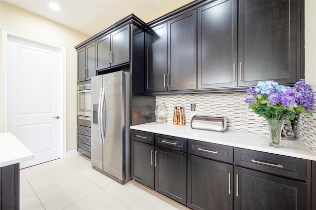
M130 73L91 77L92 168L124 184L130 175Z

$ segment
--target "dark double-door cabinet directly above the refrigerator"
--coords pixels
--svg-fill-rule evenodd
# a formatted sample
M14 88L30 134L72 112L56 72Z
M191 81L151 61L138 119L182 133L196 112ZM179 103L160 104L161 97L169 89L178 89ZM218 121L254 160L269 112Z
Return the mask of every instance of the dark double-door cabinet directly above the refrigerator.
M130 61L129 25L96 41L96 70L103 70Z

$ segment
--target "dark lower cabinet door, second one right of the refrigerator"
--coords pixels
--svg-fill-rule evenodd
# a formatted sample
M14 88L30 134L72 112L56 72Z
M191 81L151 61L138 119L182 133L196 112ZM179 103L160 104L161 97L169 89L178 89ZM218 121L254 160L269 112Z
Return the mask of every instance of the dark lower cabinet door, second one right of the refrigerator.
M156 146L155 190L187 204L187 154Z

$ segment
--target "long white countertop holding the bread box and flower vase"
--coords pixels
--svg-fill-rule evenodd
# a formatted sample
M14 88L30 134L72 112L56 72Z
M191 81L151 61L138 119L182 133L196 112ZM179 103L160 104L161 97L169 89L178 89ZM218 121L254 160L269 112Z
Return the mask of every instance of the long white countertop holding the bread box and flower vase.
M225 132L192 129L190 126L179 126L171 123L157 124L156 122L130 126L130 129L147 131L157 134L181 137L252 149L290 157L316 160L316 155L298 140L281 140L283 148L269 146L269 135L246 133L226 130Z

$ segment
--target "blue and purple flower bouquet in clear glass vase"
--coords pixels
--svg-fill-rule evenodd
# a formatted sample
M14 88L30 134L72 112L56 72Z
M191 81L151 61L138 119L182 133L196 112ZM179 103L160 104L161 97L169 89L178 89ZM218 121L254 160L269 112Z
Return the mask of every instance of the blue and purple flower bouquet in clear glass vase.
M313 110L313 91L304 79L296 82L294 87L279 85L274 81L260 81L255 88L248 88L246 93L251 96L245 99L245 103L268 122L270 146L282 146L280 138L284 120L293 120L295 114Z

